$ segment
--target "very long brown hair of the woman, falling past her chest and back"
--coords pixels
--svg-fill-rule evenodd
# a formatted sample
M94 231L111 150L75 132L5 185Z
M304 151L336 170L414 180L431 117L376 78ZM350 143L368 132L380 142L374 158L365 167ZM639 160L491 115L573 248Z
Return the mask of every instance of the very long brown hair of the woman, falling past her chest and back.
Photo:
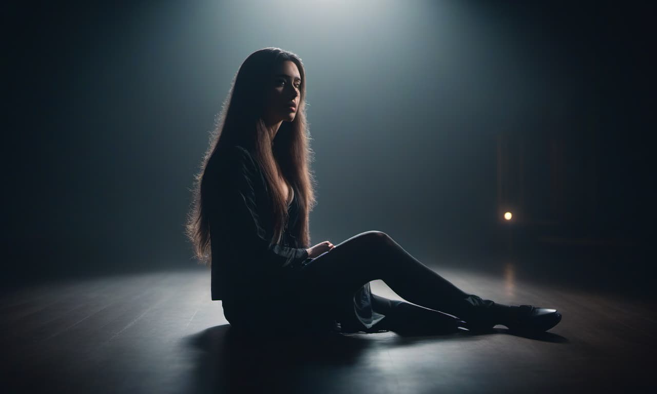
M294 62L301 76L300 102L294 121L283 121L271 142L271 136L262 119L265 105L265 89L271 83L275 67L285 60ZM217 177L217 167L212 165L224 148L240 145L254 154L260 162L265 180L271 190L274 231L269 245L281 240L284 221L287 218L287 196L283 196L278 182L278 164L283 177L294 188L299 204L300 225L296 226L302 248L310 247L309 212L315 206L313 184L315 178L310 169L312 150L309 148L309 130L306 123L306 72L299 56L280 48L264 48L249 55L233 79L233 85L223 102L216 127L210 134L210 146L204 155L200 172L195 177L193 203L185 229L193 245L194 255L208 267L210 258L209 212L212 200L210 188ZM292 229L290 229L292 230Z

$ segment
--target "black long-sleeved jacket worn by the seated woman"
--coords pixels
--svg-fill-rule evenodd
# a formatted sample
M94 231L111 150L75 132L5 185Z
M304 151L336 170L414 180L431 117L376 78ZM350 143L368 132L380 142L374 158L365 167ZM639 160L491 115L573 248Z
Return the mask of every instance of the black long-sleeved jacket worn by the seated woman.
M297 193L288 206L281 242L269 246L273 213L260 164L242 146L230 146L215 156L208 165L218 166L211 171L218 176L208 179L206 204L212 252L211 297L237 299L253 295L254 288L309 257L306 247L292 235L298 234L300 225Z

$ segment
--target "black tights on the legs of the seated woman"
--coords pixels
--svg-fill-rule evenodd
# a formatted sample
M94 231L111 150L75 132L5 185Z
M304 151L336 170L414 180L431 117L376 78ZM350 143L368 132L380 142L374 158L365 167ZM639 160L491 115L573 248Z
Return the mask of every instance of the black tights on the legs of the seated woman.
M446 321L444 313L461 317L466 307L463 299L469 295L380 231L363 232L336 244L333 250L313 259L303 270L328 297L353 295L367 282L380 279L403 299L424 307L373 294L374 309L386 315L381 324L377 324L382 329L390 328L388 324L394 318L397 321L411 318L440 326ZM404 316L400 318L400 315Z

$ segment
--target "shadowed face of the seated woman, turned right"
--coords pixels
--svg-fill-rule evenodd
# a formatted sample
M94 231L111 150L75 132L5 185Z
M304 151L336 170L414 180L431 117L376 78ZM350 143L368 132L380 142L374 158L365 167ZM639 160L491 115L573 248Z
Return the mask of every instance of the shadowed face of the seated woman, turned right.
M296 64L286 60L274 70L265 93L267 123L293 121L301 100L301 76Z

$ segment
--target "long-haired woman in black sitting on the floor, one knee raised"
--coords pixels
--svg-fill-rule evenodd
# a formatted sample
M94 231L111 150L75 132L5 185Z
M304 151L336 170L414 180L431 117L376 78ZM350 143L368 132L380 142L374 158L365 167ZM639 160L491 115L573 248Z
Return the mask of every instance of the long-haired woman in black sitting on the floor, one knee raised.
M495 324L543 331L560 321L555 309L463 292L384 232L310 246L315 196L305 97L298 56L279 48L252 53L196 177L187 234L196 256L212 267L212 299L223 301L232 326L437 333ZM411 303L372 294L375 279Z

